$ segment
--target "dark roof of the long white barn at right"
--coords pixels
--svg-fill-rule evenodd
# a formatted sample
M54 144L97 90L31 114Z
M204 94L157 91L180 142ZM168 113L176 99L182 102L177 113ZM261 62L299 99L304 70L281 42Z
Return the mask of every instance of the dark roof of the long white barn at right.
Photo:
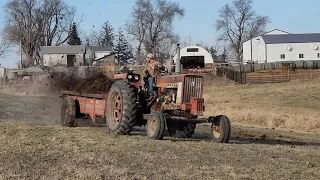
M320 33L262 35L266 44L320 42Z

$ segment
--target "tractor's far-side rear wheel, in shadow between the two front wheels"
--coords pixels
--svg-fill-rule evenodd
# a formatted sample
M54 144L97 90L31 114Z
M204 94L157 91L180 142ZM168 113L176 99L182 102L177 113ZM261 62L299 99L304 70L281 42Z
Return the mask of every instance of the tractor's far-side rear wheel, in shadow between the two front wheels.
M167 122L168 131L171 137L191 138L195 132L196 123L189 122Z

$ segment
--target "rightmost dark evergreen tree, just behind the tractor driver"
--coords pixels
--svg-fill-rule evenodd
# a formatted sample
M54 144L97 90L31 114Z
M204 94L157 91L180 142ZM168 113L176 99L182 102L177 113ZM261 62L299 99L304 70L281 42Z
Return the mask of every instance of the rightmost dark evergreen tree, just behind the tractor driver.
M119 28L118 34L116 36L116 44L114 47L116 61L118 65L127 65L128 60L133 58L132 48L129 46L128 41L124 37L122 28Z

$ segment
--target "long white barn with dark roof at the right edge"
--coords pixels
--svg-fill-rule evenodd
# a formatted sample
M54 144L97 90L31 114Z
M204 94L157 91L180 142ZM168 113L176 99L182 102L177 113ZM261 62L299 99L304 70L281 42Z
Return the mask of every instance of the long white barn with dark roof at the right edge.
M291 34L275 29L243 43L243 61L320 60L320 33Z

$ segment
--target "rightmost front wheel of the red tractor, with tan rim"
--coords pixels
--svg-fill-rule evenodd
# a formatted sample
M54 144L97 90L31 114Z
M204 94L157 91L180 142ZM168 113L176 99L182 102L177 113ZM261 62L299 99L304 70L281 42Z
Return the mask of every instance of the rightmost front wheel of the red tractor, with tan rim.
M215 117L211 126L212 139L219 143L227 143L231 135L231 123L228 117L220 115Z

